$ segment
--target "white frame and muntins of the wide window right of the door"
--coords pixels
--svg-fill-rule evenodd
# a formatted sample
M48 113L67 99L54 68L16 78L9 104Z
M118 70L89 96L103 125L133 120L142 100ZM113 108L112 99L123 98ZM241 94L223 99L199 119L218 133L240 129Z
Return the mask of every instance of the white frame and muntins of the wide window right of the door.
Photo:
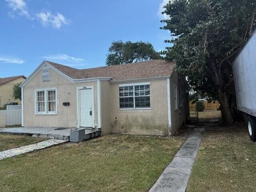
M143 107L143 108L136 108L135 107L135 97L141 97L141 96L135 96L135 88L134 88L134 86L138 86L138 85L150 85L150 82L119 84L119 86L118 86L118 105L119 105L119 110L151 110L151 97L150 97L151 86L149 86L150 94L146 95L146 96L150 97L150 107ZM133 108L120 108L119 88L120 87L124 87L124 86L133 86L133 96L126 96L126 97L133 97ZM125 98L125 96L121 97L121 98Z

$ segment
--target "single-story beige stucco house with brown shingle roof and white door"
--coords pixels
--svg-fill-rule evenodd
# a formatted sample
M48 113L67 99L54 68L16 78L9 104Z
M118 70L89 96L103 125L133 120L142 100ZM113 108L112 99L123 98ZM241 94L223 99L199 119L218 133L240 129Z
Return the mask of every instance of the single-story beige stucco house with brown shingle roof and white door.
M188 114L186 80L164 60L84 70L43 61L20 87L26 127L167 135Z

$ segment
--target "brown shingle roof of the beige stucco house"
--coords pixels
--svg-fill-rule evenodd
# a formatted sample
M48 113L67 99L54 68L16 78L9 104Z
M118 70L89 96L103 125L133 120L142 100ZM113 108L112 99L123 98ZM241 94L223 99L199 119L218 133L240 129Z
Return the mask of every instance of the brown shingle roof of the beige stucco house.
M97 77L111 77L112 80L142 79L170 76L174 70L174 63L164 60L151 60L81 70L50 61L46 62L72 79Z

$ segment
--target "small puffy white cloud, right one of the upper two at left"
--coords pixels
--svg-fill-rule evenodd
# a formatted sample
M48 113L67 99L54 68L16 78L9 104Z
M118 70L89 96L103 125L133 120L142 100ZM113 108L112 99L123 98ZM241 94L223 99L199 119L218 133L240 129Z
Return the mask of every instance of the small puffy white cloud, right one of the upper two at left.
M63 25L68 25L70 21L66 19L62 14L52 14L50 11L42 11L36 14L36 18L40 20L43 26L52 25L53 28L60 29Z

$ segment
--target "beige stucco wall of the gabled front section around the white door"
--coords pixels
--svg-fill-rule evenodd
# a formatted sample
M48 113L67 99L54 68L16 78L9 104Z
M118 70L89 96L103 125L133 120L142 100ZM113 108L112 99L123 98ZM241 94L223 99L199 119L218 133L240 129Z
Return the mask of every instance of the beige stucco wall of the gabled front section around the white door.
M42 82L41 72L24 86L24 126L27 127L69 127L77 126L76 87L94 86L94 120L98 127L97 83L72 83L54 70L50 71L51 81ZM35 115L34 90L38 88L57 88L57 115ZM68 93L70 91L70 93ZM63 102L70 102L70 106L63 106Z

